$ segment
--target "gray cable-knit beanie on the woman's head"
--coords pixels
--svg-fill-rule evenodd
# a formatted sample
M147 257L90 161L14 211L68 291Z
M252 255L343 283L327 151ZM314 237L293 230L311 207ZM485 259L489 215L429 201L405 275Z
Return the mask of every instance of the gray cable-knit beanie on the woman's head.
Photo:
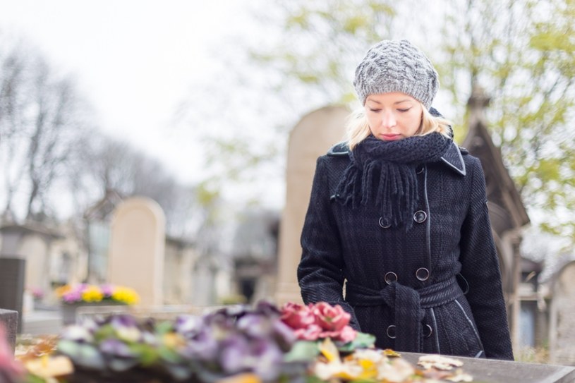
M411 42L383 40L359 63L353 86L362 105L369 95L402 92L429 109L440 83L431 61Z

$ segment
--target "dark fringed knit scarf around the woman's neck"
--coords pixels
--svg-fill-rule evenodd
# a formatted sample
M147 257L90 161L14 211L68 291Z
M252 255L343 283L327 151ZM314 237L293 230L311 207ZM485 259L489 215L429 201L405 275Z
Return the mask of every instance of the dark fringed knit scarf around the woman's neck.
M440 133L383 141L370 135L349 152L351 162L336 188L336 195L355 208L374 205L382 223L394 227L413 224L418 205L416 165L437 162L452 144Z

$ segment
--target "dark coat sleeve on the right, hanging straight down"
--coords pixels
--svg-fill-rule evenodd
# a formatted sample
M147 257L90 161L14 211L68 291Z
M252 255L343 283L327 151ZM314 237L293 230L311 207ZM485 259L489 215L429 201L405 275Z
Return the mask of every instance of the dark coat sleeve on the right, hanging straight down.
M485 176L473 159L471 202L461 229L461 274L468 281L471 305L487 358L513 360L499 259L491 233Z

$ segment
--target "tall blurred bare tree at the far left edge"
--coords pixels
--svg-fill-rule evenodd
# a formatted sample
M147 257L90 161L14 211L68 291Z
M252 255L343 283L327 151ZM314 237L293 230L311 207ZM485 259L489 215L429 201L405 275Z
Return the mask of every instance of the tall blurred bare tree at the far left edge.
M73 80L23 42L2 45L0 68L5 212L26 219L52 215L50 191L78 148L86 106Z

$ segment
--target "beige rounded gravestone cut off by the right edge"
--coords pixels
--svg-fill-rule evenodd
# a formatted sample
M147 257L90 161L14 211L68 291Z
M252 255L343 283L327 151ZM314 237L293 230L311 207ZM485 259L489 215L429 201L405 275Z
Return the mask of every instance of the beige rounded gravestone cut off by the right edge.
M549 326L551 363L575 365L575 261L562 267L552 286Z

